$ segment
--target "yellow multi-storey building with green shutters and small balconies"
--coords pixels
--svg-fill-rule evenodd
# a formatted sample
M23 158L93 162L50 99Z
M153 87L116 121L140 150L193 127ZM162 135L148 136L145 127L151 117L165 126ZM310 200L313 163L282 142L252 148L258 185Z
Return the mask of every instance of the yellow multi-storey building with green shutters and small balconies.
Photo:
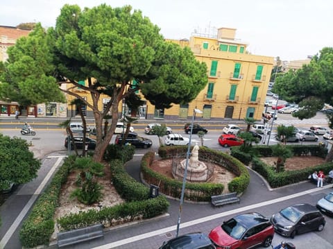
M203 119L262 118L273 57L246 52L248 44L235 39L236 29L219 28L217 36L192 36L187 40L167 40L189 46L196 59L207 65L208 84L187 105L155 110L147 105L147 117L189 119L194 108L203 111Z

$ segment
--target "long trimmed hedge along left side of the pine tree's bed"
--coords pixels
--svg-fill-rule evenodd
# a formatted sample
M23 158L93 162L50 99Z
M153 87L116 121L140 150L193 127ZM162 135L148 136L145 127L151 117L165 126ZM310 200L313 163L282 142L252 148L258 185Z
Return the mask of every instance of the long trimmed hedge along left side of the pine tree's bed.
M75 157L68 157L54 175L51 183L37 200L28 218L24 221L19 238L22 246L33 248L38 245L49 245L54 232L53 215L58 207L58 197L63 183L74 165Z

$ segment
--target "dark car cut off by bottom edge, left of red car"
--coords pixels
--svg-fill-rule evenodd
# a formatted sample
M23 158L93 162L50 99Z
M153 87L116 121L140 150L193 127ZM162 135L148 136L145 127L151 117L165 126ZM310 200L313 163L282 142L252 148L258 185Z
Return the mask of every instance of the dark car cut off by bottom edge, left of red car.
M215 249L214 244L207 235L201 232L184 234L176 238L164 241L159 249Z

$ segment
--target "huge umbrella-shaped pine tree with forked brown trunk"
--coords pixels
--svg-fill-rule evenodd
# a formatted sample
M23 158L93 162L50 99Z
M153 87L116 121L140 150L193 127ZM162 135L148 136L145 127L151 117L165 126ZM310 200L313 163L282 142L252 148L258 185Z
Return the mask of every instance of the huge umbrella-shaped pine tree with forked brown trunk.
M96 126L94 160L101 161L118 119L121 99L141 90L156 108L189 103L207 84L207 66L187 48L164 42L160 28L130 6L105 4L81 10L66 4L56 27L40 24L8 51L0 98L19 103L64 101L60 92L80 99L92 109ZM87 85L78 81L87 80ZM136 84L133 84L135 80ZM65 87L69 85L70 87ZM88 102L76 89L89 92ZM110 96L99 109L101 94ZM112 123L102 132L103 118Z

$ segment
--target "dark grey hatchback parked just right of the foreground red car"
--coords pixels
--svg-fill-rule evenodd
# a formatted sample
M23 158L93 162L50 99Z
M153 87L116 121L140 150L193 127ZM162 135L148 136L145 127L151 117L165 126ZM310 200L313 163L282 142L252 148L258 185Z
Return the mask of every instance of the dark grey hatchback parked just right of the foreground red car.
M275 232L285 237L295 237L314 230L322 231L325 218L316 207L307 203L297 204L282 209L278 214L273 214L271 223Z

